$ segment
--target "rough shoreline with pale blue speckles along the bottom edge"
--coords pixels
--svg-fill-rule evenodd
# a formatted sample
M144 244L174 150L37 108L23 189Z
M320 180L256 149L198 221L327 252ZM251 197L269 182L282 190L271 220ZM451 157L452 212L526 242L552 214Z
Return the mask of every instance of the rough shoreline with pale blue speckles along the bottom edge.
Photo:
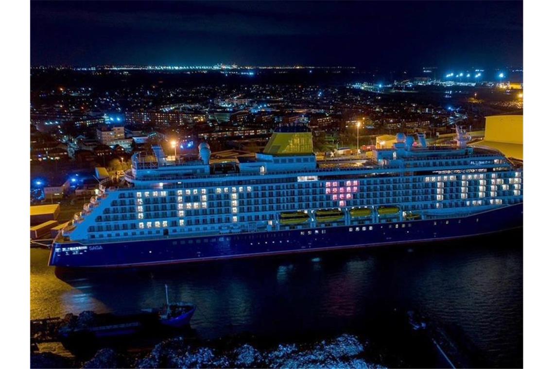
M182 337L160 342L142 355L100 349L80 362L39 352L31 355L32 368L384 368L370 359L369 342L350 334L330 340L280 344L270 348L255 344L191 345Z

